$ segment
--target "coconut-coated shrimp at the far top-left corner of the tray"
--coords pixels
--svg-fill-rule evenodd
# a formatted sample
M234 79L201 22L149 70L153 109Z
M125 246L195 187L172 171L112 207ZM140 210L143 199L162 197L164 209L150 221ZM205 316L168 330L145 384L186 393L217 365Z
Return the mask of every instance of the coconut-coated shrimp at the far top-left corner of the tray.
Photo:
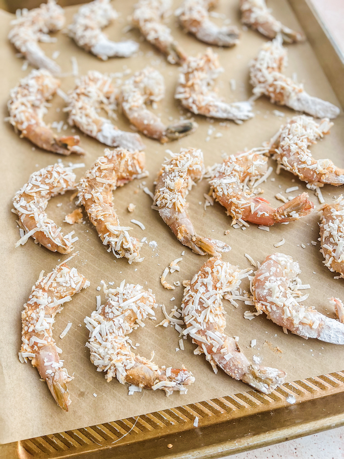
M48 33L61 30L64 23L63 9L55 0L48 0L47 4L42 3L39 8L30 11L22 9L11 22L13 28L8 34L8 39L33 67L46 68L51 73L59 74L60 66L45 56L38 43L55 41Z

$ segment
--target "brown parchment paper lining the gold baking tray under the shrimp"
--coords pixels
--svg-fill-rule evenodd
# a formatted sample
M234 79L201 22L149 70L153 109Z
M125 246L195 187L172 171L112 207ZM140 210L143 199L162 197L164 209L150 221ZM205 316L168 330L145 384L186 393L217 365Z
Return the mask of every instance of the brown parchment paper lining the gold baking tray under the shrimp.
M180 108L173 100L173 93L178 73L177 66L168 64L164 57L158 54L148 43L142 40L137 31L123 33L127 25L127 16L131 13L135 0L114 3L114 7L121 12L117 22L107 29L107 33L113 39L131 37L140 41L140 52L138 56L130 59L110 59L107 62L99 61L79 49L73 41L65 34L58 33L56 43L42 44L46 53L51 56L55 50L61 54L57 62L66 73L70 73L72 66L70 58L75 56L80 74L89 69L97 69L102 72L123 72L125 69L135 71L142 69L145 65L152 65L158 68L166 80L166 98L158 104L156 109L163 120L186 116L187 112ZM177 7L179 2L175 2ZM283 20L290 27L300 29L296 18L286 1L270 2L276 16ZM72 14L77 7L66 8L67 23L71 21ZM237 13L236 2L228 7L227 2L222 2L217 12L229 15L233 23L240 25ZM0 106L3 117L7 116L6 103L10 88L15 86L19 79L31 70L22 70L23 60L15 57L15 50L7 42L6 36L9 30L9 22L13 16L0 12ZM214 19L221 22L221 19ZM185 35L172 16L169 24L173 34L182 43L189 54L196 54L204 51L206 46L198 42L194 37ZM228 100L246 100L250 96L251 88L248 83L248 63L254 58L264 42L264 38L251 30L243 31L240 44L232 49L218 49L220 61L225 71L218 81L220 93ZM289 66L287 74L297 73L298 80L305 83L310 94L330 100L338 105L338 101L329 86L322 68L317 62L309 43L301 43L288 47ZM236 89L231 91L229 80L236 81ZM62 89L68 91L74 86L74 78L69 76L62 79ZM64 101L55 96L52 106L46 116L46 120L66 121L66 114L62 111ZM59 110L60 109L60 110ZM285 114L284 118L277 117L273 110L278 109ZM59 111L58 111L59 110ZM221 370L217 375L213 373L210 365L203 356L194 355L195 345L190 340L184 341L185 350L178 348L178 333L173 327L157 327L155 324L162 320L161 310L157 310L157 321L146 321L145 328L140 328L133 333L133 343L140 343L138 352L149 356L152 350L155 351L154 360L157 364L173 366L175 368L184 364L190 369L196 382L190 387L187 395L180 396L173 394L170 397L160 391L146 391L128 396L127 386L122 386L117 380L107 383L102 374L96 372L96 368L89 360L89 350L85 348L88 339L88 331L84 326L83 319L90 315L95 309L95 296L99 294L96 287L100 281L114 282L117 286L123 279L129 283L140 283L149 287L156 295L160 303L165 303L167 310L173 305L180 305L182 298L182 287L174 291L165 290L160 284L160 276L164 268L175 258L178 258L183 250L185 254L180 262L180 273L175 272L169 275L168 281L182 281L190 279L194 273L205 262L205 257L199 257L192 253L187 247L183 247L172 232L164 224L158 213L153 211L151 198L142 190L144 185L153 190L153 181L157 171L160 169L165 150L179 151L180 147L197 147L204 152L205 165L210 166L221 161L223 152L228 154L245 147L252 148L260 146L278 130L287 116L293 116L292 110L284 107L277 107L262 97L256 101L254 107L255 117L242 125L233 122L221 123L218 120L210 122L203 117L196 117L199 129L192 136L181 139L177 142L161 145L156 141L144 138L147 158L147 170L149 177L134 181L114 192L115 208L120 215L123 225L133 226L131 234L138 238L147 238L147 242L155 241L157 248L145 244L142 254L145 260L142 263L128 265L125 259L116 260L111 253L108 253L102 246L93 226L89 223L84 214L86 223L75 224L73 228L63 223L64 216L74 208L74 202L70 201L71 193L65 196L58 196L51 199L47 209L48 214L58 224L62 225L64 231L75 230L79 240L75 243L75 251L80 256L70 261L71 266L77 267L80 272L89 278L91 287L82 293L75 295L70 303L65 305L61 315L56 318L55 339L57 345L63 349L62 358L65 367L74 379L69 383L69 391L72 403L69 412L63 412L52 399L44 382L39 380L36 369L31 364L21 364L18 360L20 348L21 321L20 312L23 303L27 300L32 285L36 282L42 269L51 271L60 261L68 256L61 256L51 253L43 247L35 245L30 239L27 244L14 248L15 242L19 239L19 231L16 224L16 216L11 213L12 197L15 192L29 179L35 170L57 162L58 155L49 154L38 148L34 149L32 144L25 139L20 139L13 128L6 122L0 123L1 159L2 159L2 214L0 225L1 231L1 253L2 253L2 308L0 310L1 320L1 352L0 352L0 384L1 384L1 425L0 441L2 443L22 440L48 433L80 428L83 426L118 420L124 417L137 416L140 414L163 410L181 404L197 402L209 398L230 395L237 392L249 390L249 387L242 382L234 381ZM128 121L118 114L118 126L121 129L130 130ZM210 133L209 127L214 130ZM71 133L68 127L63 133ZM216 137L221 133L222 137ZM321 143L312 147L313 155L316 158L331 158L338 166L344 167L342 146L344 140L343 117L340 115L335 120L331 134ZM82 146L87 150L84 159L71 156L63 158L65 163L85 162L90 167L98 156L103 154L104 146L81 134ZM271 162L276 169L276 164ZM78 178L86 169L76 169ZM274 198L278 192L285 194L285 189L297 185L299 190L292 193L294 196L302 191L307 191L305 184L299 182L293 175L275 172L263 185L264 197L271 200L276 207L281 205L280 201ZM208 192L207 181L203 180L195 187L189 195L190 216L194 221L196 231L200 235L221 239L229 243L232 250L224 259L232 264L238 264L242 268L250 267L245 253L250 254L255 260L262 261L269 253L278 250L290 254L300 262L302 269L301 278L304 283L311 285L310 295L306 304L313 304L321 312L334 317L334 312L328 306L327 298L330 296L344 297L342 280L334 280L334 274L323 266L323 258L319 252L319 243L313 246L311 241L317 241L319 237L318 217L316 212L297 222L288 225L276 225L270 228L270 232L259 230L256 226L250 225L247 230L234 230L230 227L231 220L226 216L224 208L220 205L204 210L203 193ZM340 189L324 187L323 195L326 201L330 202L333 196L338 196ZM310 192L315 207L320 205L313 192ZM136 205L134 213L128 213L126 208L130 202ZM58 204L62 206L58 207ZM146 226L142 231L140 227L130 223L130 219L140 220ZM225 230L229 234L225 235ZM276 249L274 243L285 239L285 244ZM305 245L302 248L301 244ZM247 288L243 283L243 288ZM104 295L101 293L102 300ZM171 298L175 299L171 299ZM227 311L227 331L229 335L239 336L239 344L249 359L253 355L261 358L263 365L278 367L287 372L287 381L299 378L311 377L323 373L342 370L342 359L344 348L316 340L304 340L300 337L283 334L280 327L267 320L265 315L256 317L249 321L244 319L243 313L246 310L254 311L243 303L239 308L233 308L228 301L224 301ZM59 335L65 328L67 322L72 322L72 327L67 336L61 340ZM250 347L252 339L256 339L256 346ZM280 349L280 351L278 349ZM95 397L93 394L97 394Z

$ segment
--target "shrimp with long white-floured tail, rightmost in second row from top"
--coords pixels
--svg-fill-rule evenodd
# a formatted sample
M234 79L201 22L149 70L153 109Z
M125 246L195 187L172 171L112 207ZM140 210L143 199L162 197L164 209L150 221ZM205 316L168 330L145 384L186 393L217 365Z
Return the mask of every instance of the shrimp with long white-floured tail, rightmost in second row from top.
M286 65L287 53L282 46L282 37L279 35L273 41L264 43L250 66L253 94L256 97L265 94L273 104L286 105L315 118L336 118L339 108L326 100L309 95L302 84L286 77L282 73Z

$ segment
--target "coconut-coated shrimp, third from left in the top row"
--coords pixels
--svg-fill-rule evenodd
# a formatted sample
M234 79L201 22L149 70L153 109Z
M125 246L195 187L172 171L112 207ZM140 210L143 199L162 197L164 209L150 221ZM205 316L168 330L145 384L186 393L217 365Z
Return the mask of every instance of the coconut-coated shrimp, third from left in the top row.
M180 64L186 54L162 21L171 7L171 0L139 0L134 7L133 24L149 43L165 54L170 64Z

